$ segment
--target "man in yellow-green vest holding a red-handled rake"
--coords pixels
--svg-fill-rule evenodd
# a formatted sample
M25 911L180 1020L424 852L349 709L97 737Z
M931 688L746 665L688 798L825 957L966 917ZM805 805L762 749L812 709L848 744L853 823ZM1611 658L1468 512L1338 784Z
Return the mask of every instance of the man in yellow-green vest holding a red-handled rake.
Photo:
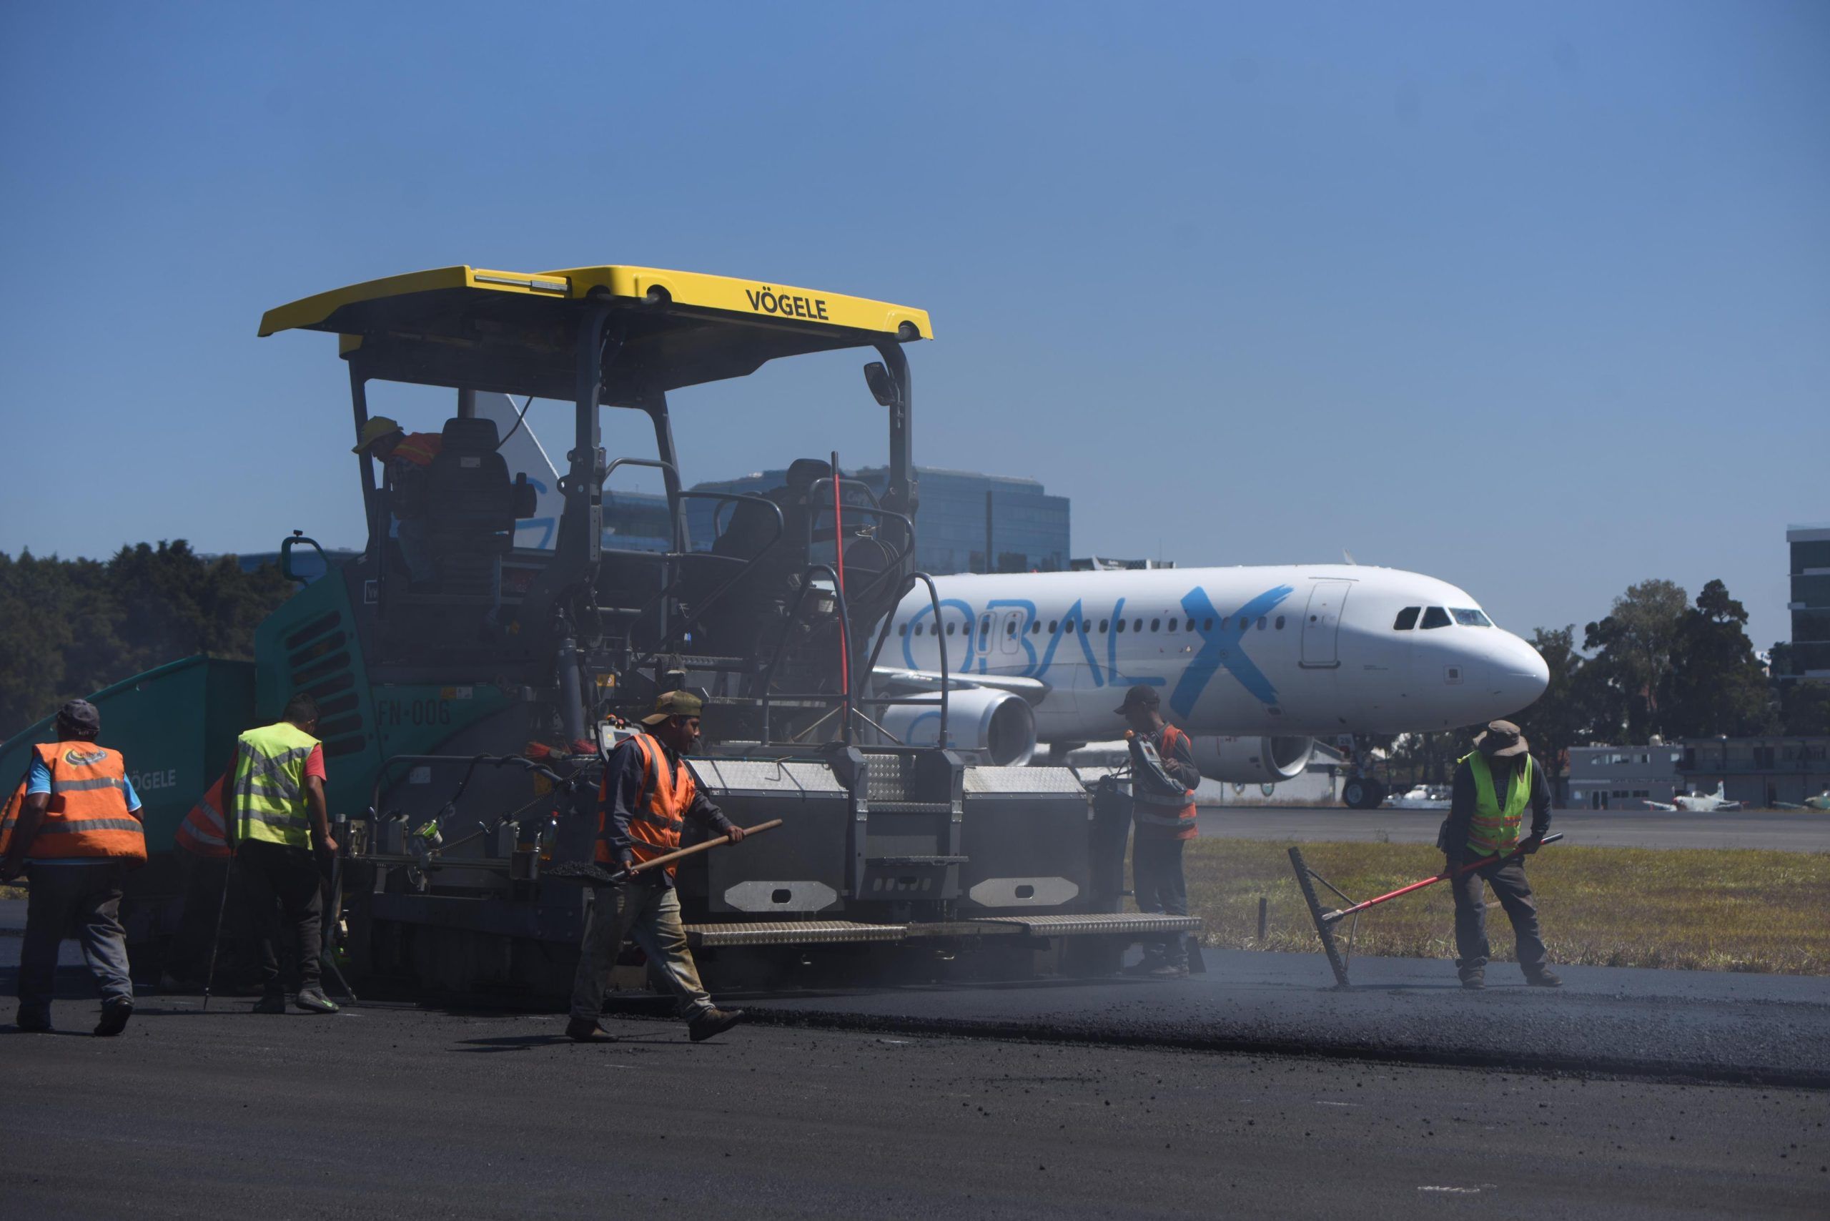
M1524 809L1532 807L1532 833L1519 838ZM1455 888L1455 952L1464 989L1486 987L1491 946L1486 937L1486 901L1480 884L1493 888L1517 941L1524 981L1556 989L1563 985L1545 965L1545 939L1537 928L1537 901L1524 881L1524 857L1535 853L1550 831L1550 785L1532 760L1532 747L1512 721L1491 721L1475 738L1475 749L1455 767L1455 793L1442 824L1444 873ZM1479 864L1457 873L1466 864Z

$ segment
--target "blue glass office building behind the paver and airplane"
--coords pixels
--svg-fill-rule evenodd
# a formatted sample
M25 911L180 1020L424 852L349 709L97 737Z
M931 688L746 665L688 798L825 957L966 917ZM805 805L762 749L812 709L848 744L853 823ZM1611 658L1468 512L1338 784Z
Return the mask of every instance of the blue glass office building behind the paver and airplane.
M847 472L877 496L889 480L886 467ZM1069 502L1050 496L1038 480L972 470L917 467L915 567L928 573L1056 573L1067 569ZM737 480L699 483L695 492L767 494L787 483L787 470L759 470ZM717 513L717 522L714 522ZM730 518L708 500L686 502L686 529L699 551L712 546L717 525ZM990 556L990 564L986 564Z

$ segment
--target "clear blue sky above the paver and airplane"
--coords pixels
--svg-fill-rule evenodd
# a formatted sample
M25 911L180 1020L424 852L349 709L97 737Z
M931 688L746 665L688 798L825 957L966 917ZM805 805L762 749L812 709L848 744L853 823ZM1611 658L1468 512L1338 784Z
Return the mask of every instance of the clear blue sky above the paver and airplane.
M922 306L917 459L1076 553L1764 646L1830 518L1819 2L9 4L0 124L9 553L359 544L335 340L256 322L461 262ZM684 474L880 461L858 362L679 395Z

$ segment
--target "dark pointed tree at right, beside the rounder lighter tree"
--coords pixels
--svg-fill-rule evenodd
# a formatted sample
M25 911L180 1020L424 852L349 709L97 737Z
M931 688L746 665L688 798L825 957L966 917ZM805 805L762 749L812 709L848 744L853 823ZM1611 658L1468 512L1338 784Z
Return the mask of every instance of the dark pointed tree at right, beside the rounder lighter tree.
M1663 723L1673 738L1738 738L1773 727L1768 679L1748 639L1748 608L1711 580L1673 644Z

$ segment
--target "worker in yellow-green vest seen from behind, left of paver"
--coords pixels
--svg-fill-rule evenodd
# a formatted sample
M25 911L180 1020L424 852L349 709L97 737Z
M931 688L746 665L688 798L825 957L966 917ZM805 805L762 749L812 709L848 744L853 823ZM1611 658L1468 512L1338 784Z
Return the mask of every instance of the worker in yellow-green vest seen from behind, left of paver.
M324 747L317 740L318 705L293 696L273 725L251 729L229 756L229 846L249 934L260 943L260 1014L285 1012L280 941L298 981L293 1003L317 1014L337 1005L320 985L324 873L320 857L337 851L324 804Z

